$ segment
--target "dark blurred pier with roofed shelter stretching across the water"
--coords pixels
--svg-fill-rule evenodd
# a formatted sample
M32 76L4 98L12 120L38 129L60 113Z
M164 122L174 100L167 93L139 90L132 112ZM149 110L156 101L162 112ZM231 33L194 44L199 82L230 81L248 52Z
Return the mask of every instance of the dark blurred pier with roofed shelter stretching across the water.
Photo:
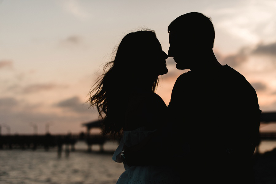
M268 124L276 122L276 112L263 112L260 117L261 124ZM109 136L102 136L101 134L90 134L92 128L102 128L102 121L93 121L83 123L82 126L86 126L86 133L79 134L50 134L44 135L33 134L33 135L1 135L0 134L0 149L33 149L57 147L58 151L62 150L63 145L66 149L75 151L75 144L77 141L85 141L87 144L87 150L92 151L92 145L100 145L100 152L104 152L103 145L106 141L110 140ZM276 140L275 131L266 131L259 133L259 143L256 146L256 152L258 152L258 146L262 140ZM115 140L119 142L119 139Z

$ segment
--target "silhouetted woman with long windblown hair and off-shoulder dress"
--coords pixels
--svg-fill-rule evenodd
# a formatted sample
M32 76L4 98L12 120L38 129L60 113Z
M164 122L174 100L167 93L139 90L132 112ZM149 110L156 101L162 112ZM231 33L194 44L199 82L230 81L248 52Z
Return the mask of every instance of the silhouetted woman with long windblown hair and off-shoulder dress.
M168 72L168 56L153 30L128 33L114 55L90 91L89 101L104 119L102 133L123 135L113 155L113 160L123 162L124 147L143 145L141 142L166 123L167 106L154 91L158 76ZM130 166L125 162L124 166L126 171L117 183L172 182L168 167Z

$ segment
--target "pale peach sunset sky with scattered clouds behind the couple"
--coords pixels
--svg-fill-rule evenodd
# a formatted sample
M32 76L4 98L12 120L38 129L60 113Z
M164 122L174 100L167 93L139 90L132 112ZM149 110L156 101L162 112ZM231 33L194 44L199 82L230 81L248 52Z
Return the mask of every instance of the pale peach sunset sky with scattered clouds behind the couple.
M8 126L12 134L33 133L32 123L45 133L49 122L51 133L84 131L82 123L98 119L84 104L87 94L121 38L147 27L167 53L167 26L194 11L213 20L219 62L251 83L262 111L276 111L275 9L275 0L0 0L2 134ZM166 104L187 71L173 58L167 68L156 92Z

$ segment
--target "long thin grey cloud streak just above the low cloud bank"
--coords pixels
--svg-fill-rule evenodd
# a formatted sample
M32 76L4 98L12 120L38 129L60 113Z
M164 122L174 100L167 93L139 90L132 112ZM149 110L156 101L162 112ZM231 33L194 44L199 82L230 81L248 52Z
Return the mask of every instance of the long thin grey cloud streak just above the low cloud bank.
M35 93L41 91L52 90L54 88L64 88L64 85L57 85L57 84L32 84L24 87L22 89L23 93Z

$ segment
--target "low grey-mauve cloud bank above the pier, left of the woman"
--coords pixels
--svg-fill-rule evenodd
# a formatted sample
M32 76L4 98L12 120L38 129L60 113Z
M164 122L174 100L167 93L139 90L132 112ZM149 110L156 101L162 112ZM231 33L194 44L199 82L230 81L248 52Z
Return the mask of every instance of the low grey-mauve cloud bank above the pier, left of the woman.
M17 100L14 97L0 98L0 117L1 122L6 123L11 128L11 133L33 133L33 128L29 126L29 122L34 122L38 126L39 133L45 133L45 123L52 121L51 133L66 133L67 131L79 132L83 129L81 123L89 122L98 119L98 112L96 110L86 110L78 98L71 98L73 100L63 100L64 103L60 105L63 108L75 109L76 113L67 111L67 113L57 111L53 106L44 106L41 103L32 104L27 99ZM62 101L61 101L62 102ZM41 108L42 107L42 108ZM79 108L79 109L78 109ZM86 110L86 113L84 113ZM2 129L2 133L6 133Z

